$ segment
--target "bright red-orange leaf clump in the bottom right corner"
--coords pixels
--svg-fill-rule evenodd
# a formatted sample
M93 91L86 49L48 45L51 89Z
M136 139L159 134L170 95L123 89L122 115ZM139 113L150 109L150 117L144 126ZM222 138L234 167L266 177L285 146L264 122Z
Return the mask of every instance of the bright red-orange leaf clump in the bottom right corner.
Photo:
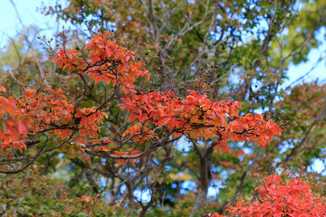
M226 211L233 216L323 216L326 213L326 206L314 198L309 185L296 178L284 184L280 176L271 175L263 183L264 186L254 189L252 203L239 201Z

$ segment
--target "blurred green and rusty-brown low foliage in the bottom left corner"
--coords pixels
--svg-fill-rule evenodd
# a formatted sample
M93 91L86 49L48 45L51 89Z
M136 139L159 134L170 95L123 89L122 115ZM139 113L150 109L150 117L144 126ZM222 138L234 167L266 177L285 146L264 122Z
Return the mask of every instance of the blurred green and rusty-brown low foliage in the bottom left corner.
M38 169L17 175L1 175L0 213L4 216L97 216L110 213L99 207L98 195L90 195L87 183L69 188L67 182L40 175ZM82 195L81 195L82 193Z

